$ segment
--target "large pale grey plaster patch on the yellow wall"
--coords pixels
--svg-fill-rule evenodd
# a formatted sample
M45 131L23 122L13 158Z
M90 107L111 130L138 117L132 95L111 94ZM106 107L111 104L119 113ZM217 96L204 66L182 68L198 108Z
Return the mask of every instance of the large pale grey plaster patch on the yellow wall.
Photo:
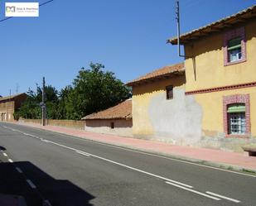
M149 105L149 117L154 138L178 145L199 145L201 138L202 108L185 89L173 89L173 99L158 93Z

